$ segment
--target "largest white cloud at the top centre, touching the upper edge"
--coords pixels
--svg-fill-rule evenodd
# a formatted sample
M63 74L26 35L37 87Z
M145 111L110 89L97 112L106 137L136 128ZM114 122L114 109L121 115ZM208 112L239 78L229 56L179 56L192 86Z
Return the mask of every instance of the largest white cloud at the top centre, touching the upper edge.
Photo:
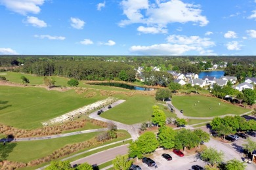
M174 22L194 22L205 26L209 23L207 18L201 15L202 10L198 5L183 3L181 0L156 0L151 4L148 0L123 0L121 6L127 20L121 20L119 26L137 23L165 27Z

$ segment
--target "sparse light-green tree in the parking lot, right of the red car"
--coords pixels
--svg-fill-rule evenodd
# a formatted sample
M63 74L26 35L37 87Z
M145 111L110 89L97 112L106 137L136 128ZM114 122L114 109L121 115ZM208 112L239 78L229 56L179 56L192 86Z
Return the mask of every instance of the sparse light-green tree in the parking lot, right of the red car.
M209 147L202 152L201 158L203 161L208 161L212 166L215 166L223 161L224 153L222 151L218 152L215 148Z

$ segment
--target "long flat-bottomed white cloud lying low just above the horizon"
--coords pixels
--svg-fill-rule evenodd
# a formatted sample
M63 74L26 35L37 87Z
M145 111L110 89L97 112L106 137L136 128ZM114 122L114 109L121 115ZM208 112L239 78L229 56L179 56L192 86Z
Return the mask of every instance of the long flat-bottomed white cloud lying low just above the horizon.
M151 46L131 46L130 51L140 55L182 55L184 52L199 52L202 55L216 55L213 50L207 48L215 46L215 43L207 38L198 36L187 37L185 35L170 35L168 43L153 44Z

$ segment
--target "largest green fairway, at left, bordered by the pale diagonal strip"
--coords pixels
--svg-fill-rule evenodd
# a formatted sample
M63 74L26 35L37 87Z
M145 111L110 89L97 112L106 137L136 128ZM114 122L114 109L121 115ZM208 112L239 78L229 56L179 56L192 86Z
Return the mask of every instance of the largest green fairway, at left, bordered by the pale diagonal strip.
M98 92L96 92L98 93ZM45 88L0 86L0 123L24 129L41 127L41 122L106 97L86 98L75 90L57 92Z

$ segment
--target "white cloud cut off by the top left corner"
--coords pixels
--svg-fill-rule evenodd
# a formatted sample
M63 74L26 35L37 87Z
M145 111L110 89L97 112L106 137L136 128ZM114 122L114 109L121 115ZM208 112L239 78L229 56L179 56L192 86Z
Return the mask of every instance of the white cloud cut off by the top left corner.
M38 14L41 10L39 6L43 3L45 3L45 0L0 0L0 5L4 5L7 9L22 15Z

